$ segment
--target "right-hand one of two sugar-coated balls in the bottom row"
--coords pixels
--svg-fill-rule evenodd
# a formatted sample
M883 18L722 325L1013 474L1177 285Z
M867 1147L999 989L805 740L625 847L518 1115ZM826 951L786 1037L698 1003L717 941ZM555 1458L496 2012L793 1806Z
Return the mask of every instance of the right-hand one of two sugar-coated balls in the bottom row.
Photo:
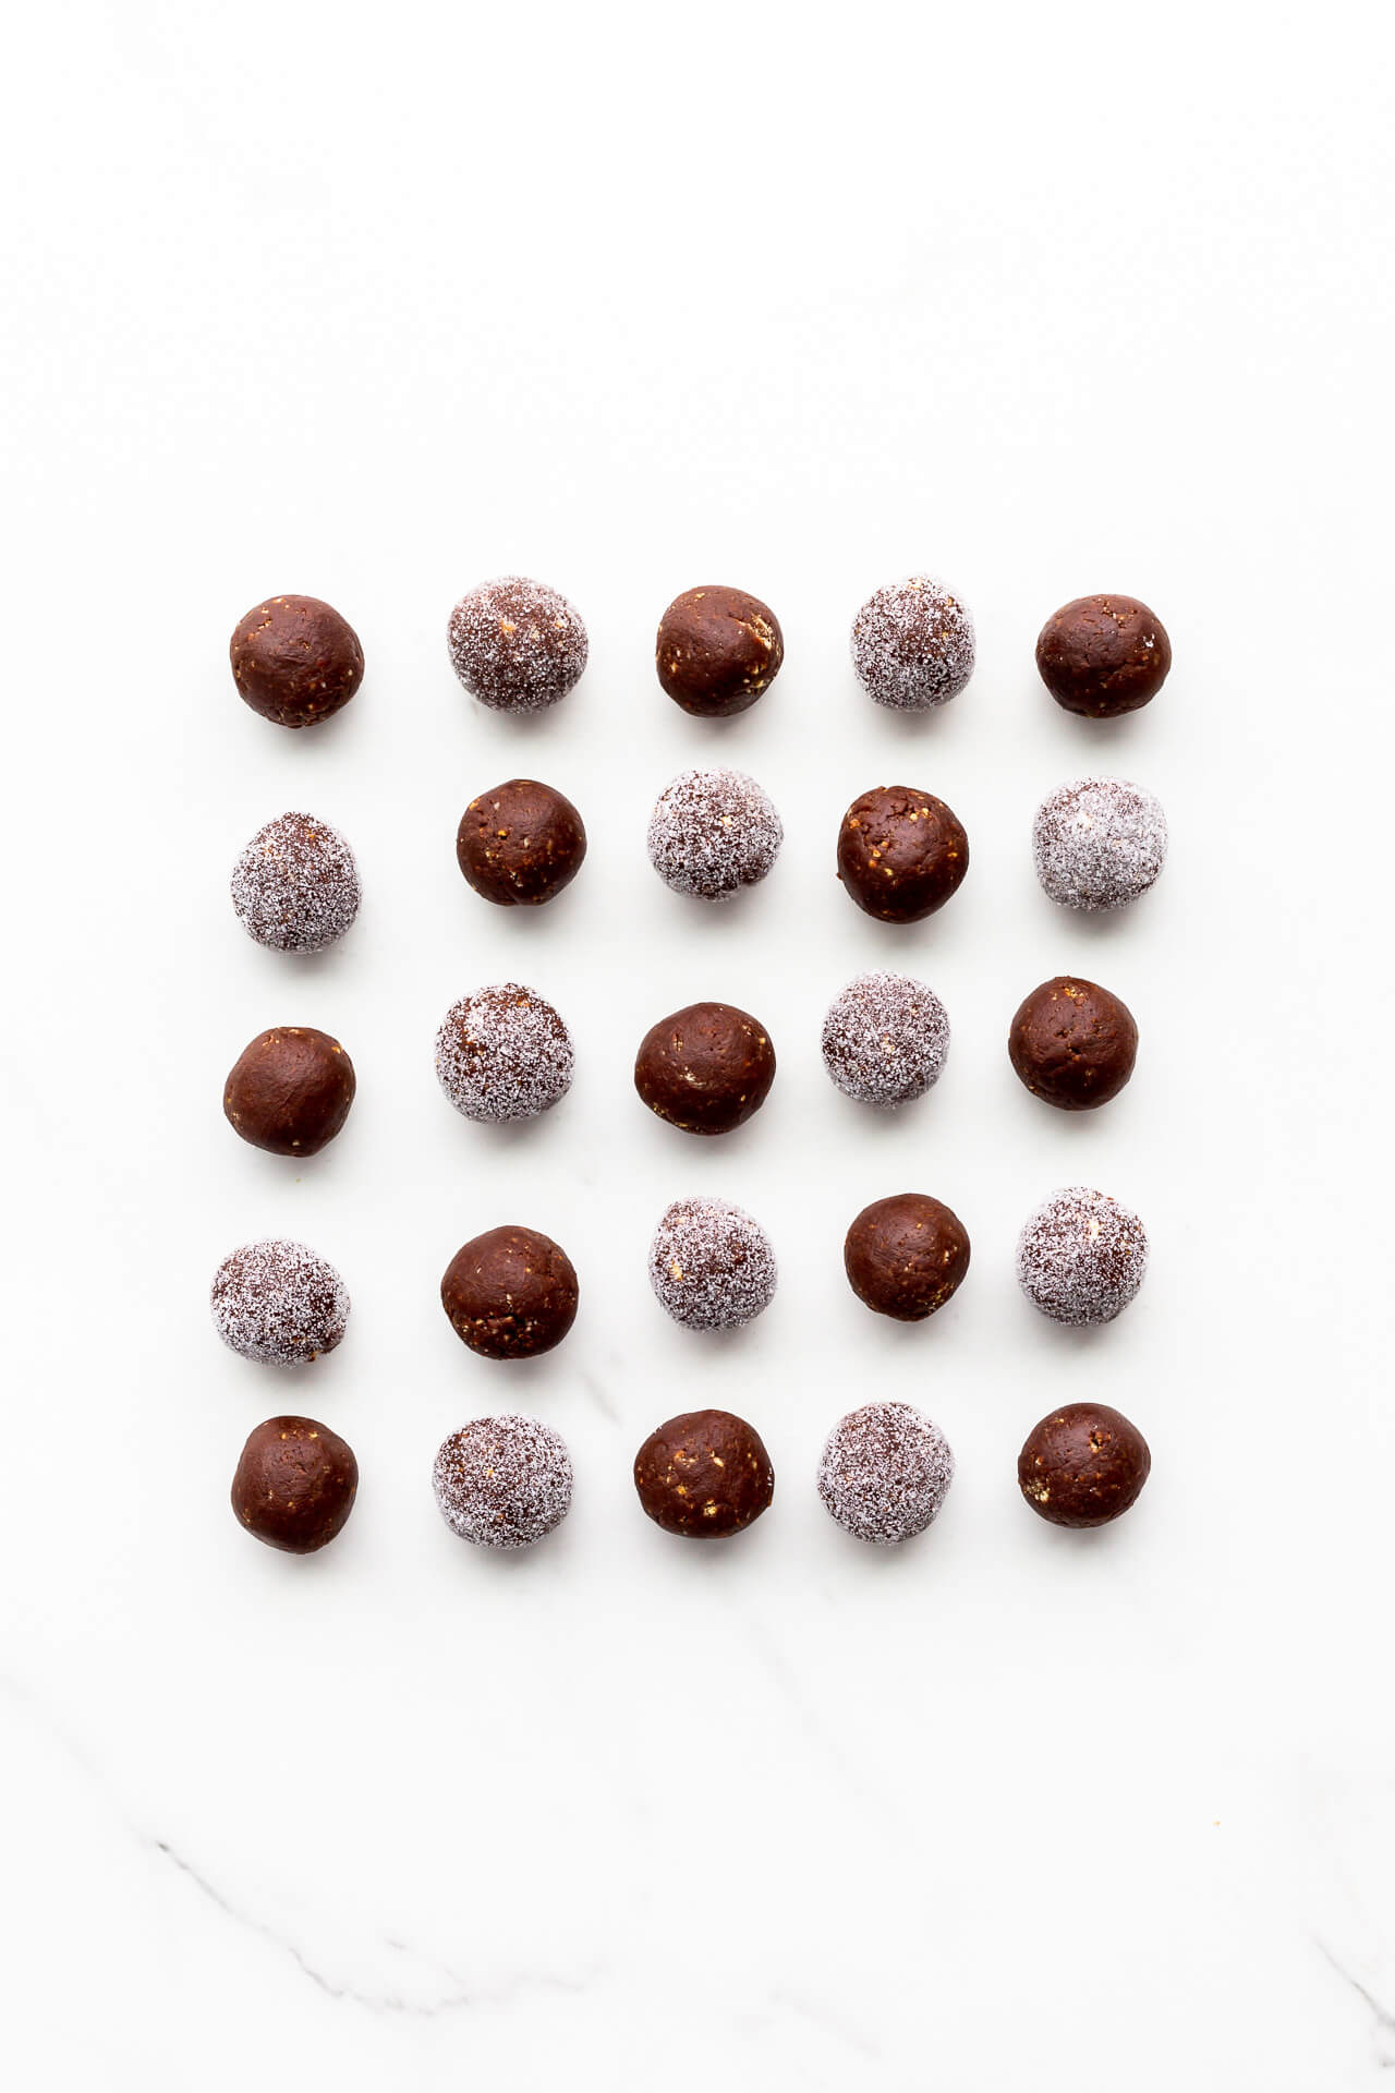
M857 1540L895 1547L922 1534L954 1482L954 1455L937 1423L910 1402L868 1402L828 1434L818 1494Z

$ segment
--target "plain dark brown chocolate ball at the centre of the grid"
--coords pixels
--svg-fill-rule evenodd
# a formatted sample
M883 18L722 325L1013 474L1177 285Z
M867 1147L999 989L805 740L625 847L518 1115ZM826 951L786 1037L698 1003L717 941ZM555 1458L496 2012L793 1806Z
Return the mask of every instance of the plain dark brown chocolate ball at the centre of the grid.
M659 1019L634 1063L650 1111L686 1134L730 1134L765 1103L776 1051L759 1017L730 1003L690 1003Z

